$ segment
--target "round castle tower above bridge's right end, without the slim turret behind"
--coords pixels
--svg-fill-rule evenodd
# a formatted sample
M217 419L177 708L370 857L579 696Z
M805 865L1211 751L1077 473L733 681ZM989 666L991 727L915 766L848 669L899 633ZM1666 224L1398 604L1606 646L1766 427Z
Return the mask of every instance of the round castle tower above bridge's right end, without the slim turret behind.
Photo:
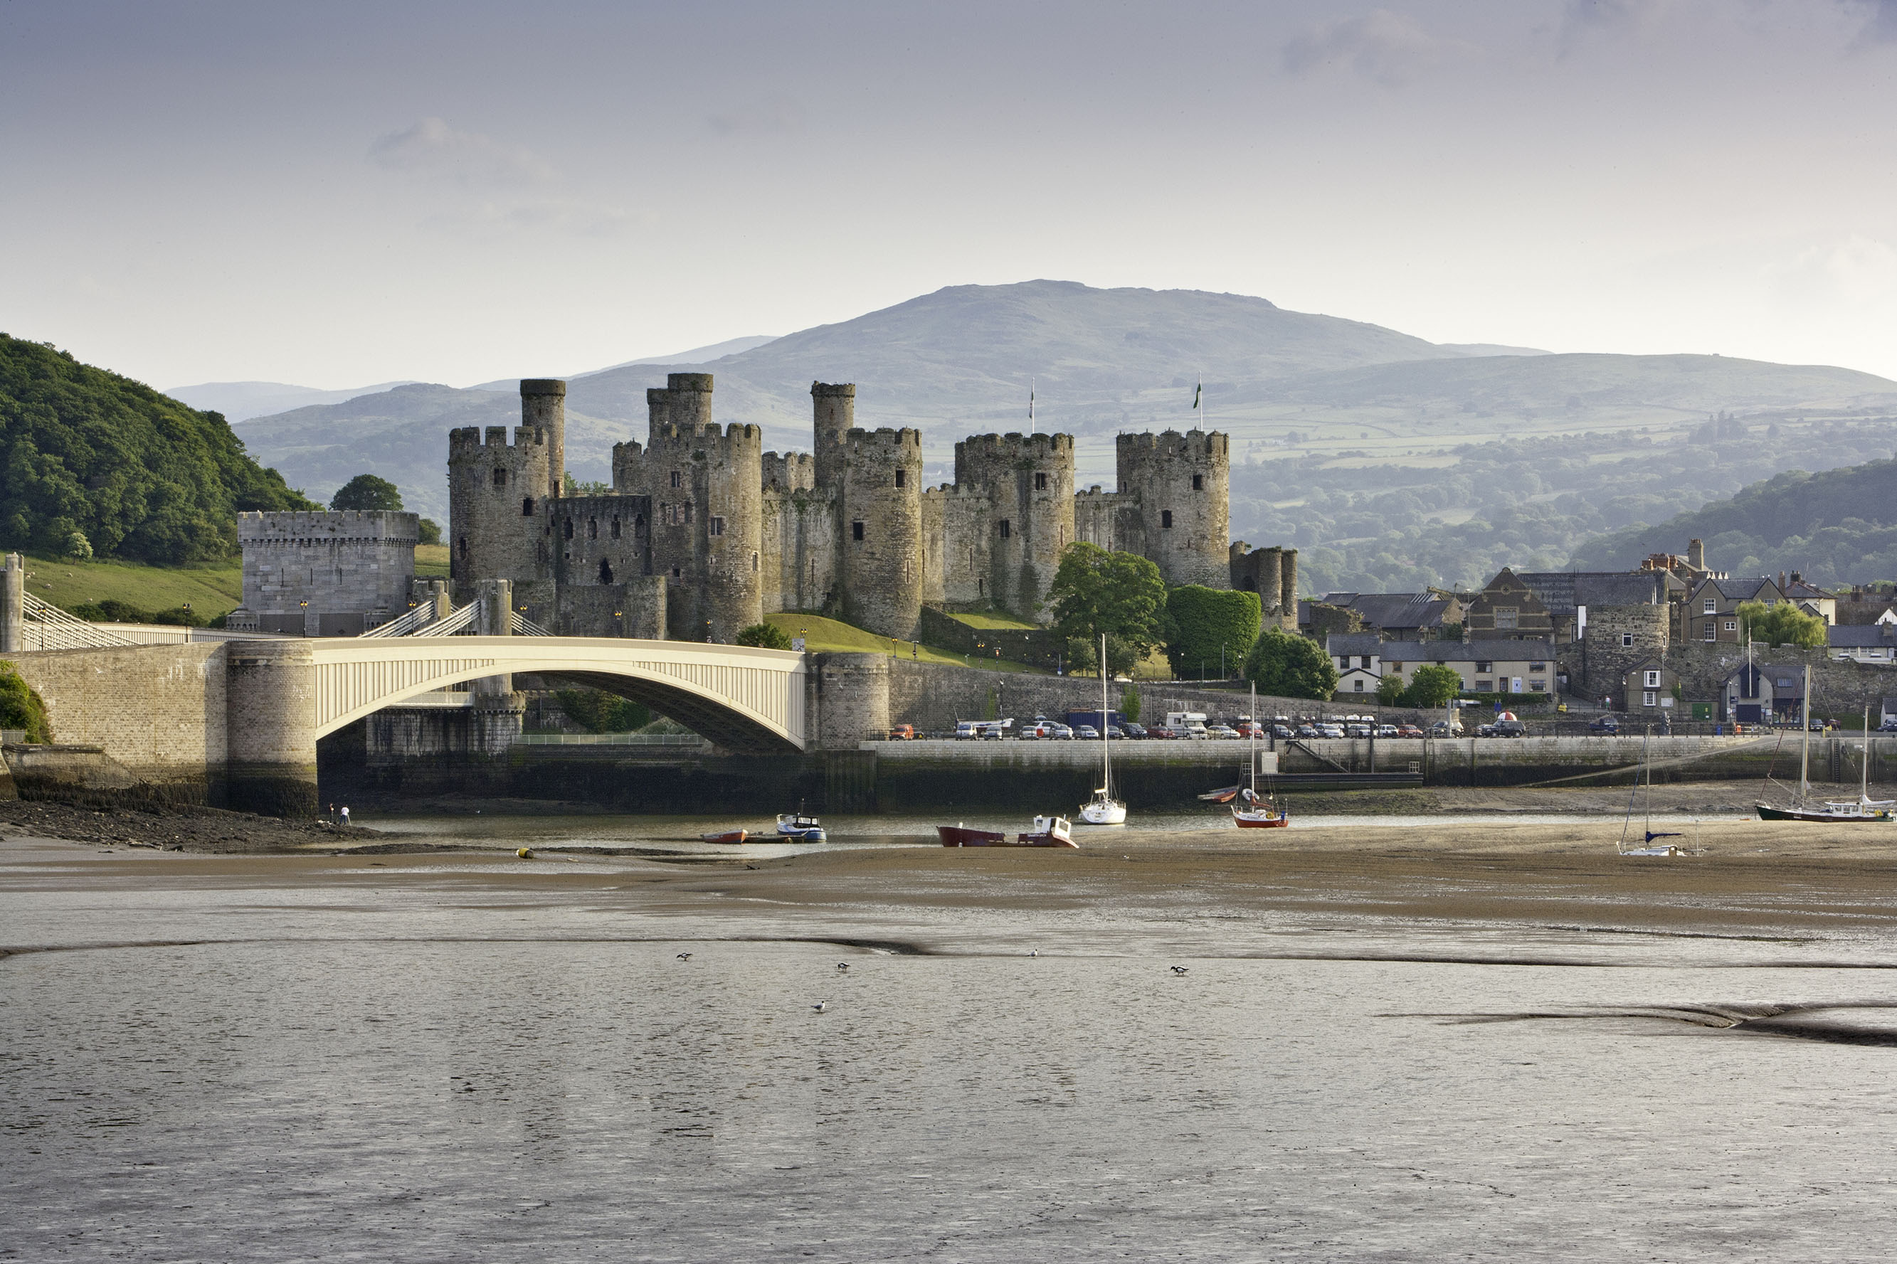
M922 620L922 432L842 430L838 440L844 620L909 641Z

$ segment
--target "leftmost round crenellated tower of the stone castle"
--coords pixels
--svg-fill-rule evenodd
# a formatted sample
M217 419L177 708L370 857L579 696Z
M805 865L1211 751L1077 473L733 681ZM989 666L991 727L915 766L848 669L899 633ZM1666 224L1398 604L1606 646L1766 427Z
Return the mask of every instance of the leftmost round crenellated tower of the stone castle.
M543 426L516 426L512 443L506 426L488 426L486 436L478 426L448 432L448 574L461 601L478 580L520 584L552 574L543 534L552 468Z

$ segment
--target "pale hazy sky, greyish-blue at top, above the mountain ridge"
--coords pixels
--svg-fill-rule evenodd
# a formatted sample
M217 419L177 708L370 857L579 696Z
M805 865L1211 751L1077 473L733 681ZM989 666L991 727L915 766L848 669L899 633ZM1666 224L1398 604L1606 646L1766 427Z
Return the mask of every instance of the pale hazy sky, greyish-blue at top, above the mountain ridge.
M1032 277L1897 377L1897 0L0 0L0 330L571 373Z

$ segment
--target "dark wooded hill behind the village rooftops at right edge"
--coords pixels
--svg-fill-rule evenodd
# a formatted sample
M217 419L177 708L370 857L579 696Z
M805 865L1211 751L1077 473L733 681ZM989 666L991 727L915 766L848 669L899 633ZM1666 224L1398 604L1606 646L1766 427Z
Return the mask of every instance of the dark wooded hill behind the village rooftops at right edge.
M1798 570L1819 586L1897 576L1897 460L1842 470L1789 470L1726 500L1588 540L1575 565L1609 570L1648 553L1677 553L1705 540L1709 565L1732 574Z

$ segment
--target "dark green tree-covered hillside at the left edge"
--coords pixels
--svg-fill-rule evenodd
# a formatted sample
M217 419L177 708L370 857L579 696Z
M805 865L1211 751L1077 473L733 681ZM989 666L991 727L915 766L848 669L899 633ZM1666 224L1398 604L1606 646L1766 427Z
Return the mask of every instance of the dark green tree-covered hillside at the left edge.
M0 548L157 565L237 551L239 510L319 508L199 413L0 334ZM83 550L82 550L83 551Z

